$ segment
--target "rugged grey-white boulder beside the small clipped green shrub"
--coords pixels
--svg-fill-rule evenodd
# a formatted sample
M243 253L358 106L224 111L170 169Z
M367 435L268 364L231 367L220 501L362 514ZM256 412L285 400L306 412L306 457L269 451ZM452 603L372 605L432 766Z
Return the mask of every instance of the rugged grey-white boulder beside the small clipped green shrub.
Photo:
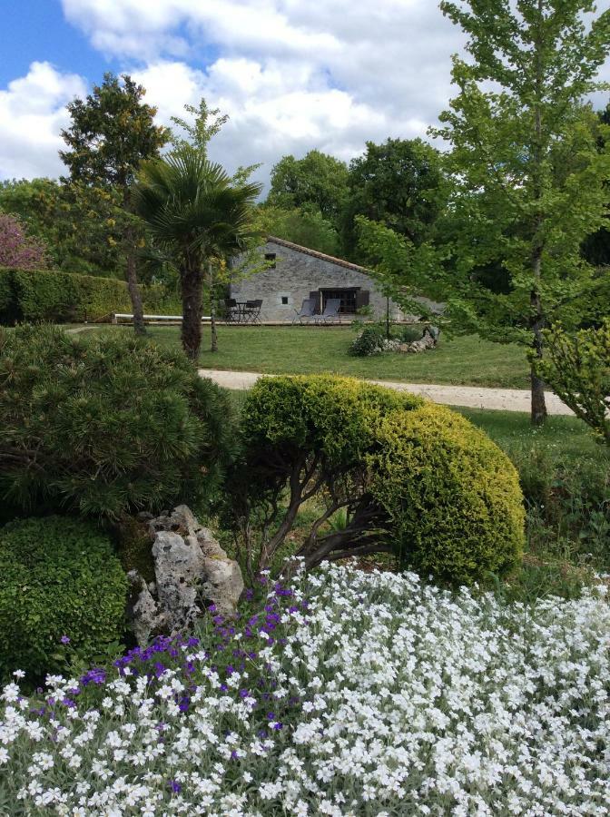
M231 615L243 591L240 566L202 527L185 505L160 517L147 517L155 581L147 585L137 571L129 574L129 613L139 644L151 635L175 635L192 625L202 608L214 604Z

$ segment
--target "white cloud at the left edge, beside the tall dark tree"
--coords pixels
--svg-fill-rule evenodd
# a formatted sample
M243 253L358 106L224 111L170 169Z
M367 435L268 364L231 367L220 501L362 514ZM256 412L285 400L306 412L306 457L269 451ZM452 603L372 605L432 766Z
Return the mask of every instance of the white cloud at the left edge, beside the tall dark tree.
M59 175L64 106L85 93L80 76L60 74L48 63L32 63L26 76L0 91L0 178Z

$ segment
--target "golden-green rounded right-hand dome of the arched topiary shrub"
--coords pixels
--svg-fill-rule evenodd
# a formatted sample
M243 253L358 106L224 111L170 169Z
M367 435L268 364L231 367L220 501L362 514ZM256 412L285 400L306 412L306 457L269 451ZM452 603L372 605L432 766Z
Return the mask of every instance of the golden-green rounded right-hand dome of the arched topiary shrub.
M483 431L426 403L384 418L379 442L371 492L392 520L403 565L452 584L517 566L525 538L517 470Z

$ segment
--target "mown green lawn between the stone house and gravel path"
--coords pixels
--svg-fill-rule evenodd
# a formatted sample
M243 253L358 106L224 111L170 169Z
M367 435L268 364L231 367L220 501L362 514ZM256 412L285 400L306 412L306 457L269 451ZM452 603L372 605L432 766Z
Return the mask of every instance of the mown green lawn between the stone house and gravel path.
M133 331L129 327L115 331ZM524 349L474 337L441 339L438 348L419 355L389 352L351 358L355 333L348 327L225 327L218 330L219 351L209 349L203 329L200 365L204 369L261 371L265 374L314 374L329 371L357 378L497 386L527 389ZM150 337L165 346L180 346L178 327L150 327Z

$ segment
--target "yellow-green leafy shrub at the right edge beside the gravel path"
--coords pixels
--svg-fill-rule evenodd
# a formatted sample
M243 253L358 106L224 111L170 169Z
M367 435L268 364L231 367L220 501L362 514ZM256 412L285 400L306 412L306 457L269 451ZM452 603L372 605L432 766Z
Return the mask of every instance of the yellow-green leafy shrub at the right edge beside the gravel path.
M554 327L545 340L538 375L610 446L610 319L576 335Z

